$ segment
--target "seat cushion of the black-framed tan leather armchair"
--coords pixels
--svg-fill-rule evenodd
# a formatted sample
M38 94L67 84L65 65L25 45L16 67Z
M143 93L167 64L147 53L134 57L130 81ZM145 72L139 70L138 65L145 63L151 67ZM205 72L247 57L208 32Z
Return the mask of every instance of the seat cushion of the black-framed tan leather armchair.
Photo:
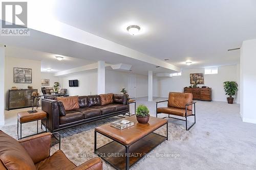
M186 110L179 109L176 107L160 107L160 108L157 108L157 112L185 117ZM187 110L187 116L189 116L191 114L192 114L192 111Z

